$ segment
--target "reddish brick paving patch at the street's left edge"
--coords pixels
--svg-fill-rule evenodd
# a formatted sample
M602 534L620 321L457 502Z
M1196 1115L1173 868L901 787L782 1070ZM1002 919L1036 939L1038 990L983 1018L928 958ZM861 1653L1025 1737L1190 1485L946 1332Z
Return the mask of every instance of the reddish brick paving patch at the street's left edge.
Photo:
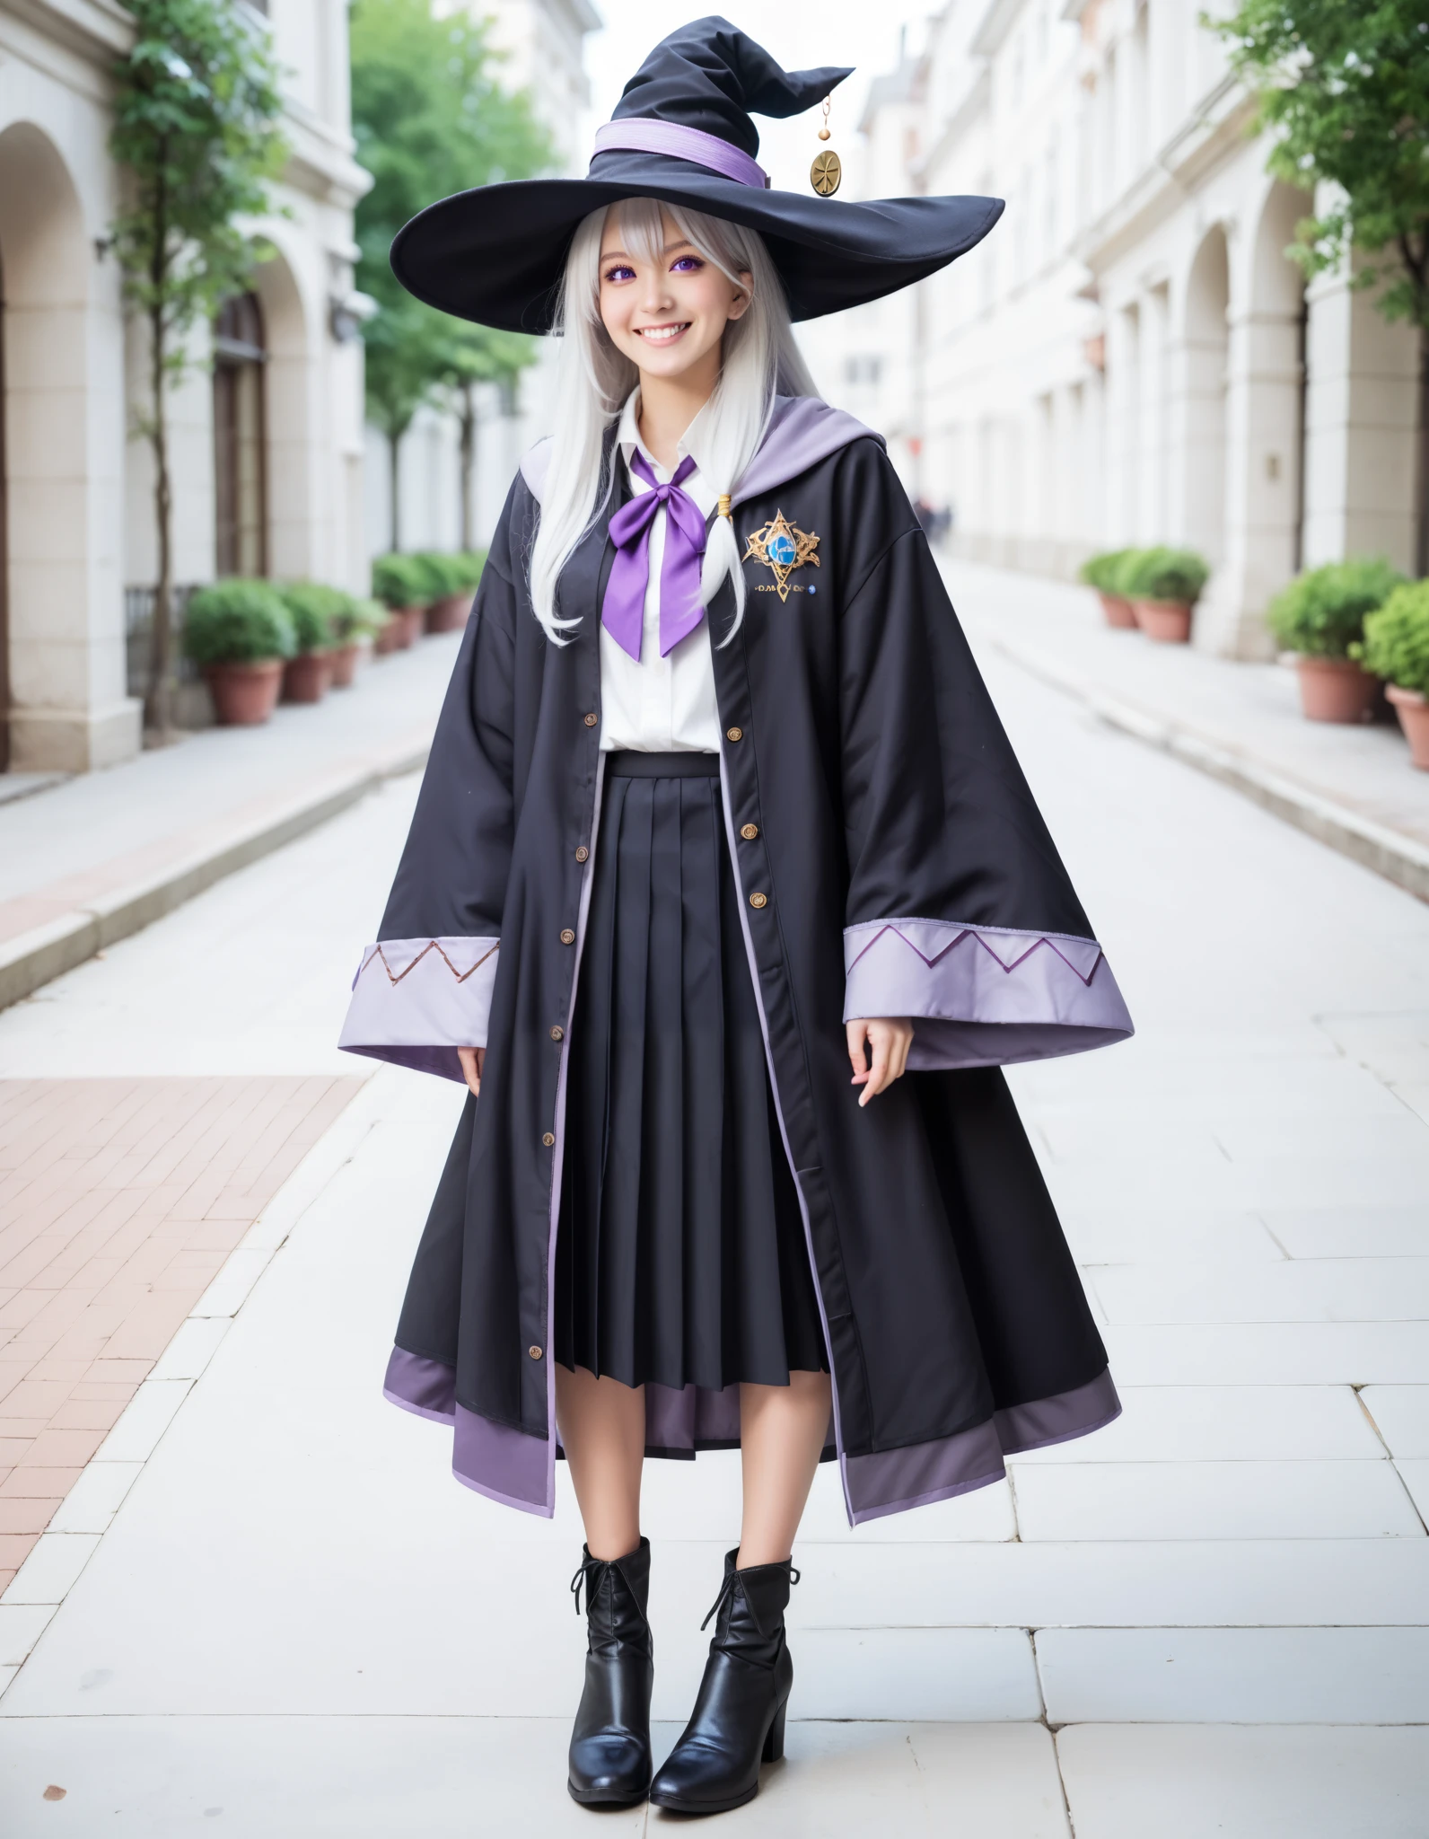
M0 1079L0 1591L360 1079Z

